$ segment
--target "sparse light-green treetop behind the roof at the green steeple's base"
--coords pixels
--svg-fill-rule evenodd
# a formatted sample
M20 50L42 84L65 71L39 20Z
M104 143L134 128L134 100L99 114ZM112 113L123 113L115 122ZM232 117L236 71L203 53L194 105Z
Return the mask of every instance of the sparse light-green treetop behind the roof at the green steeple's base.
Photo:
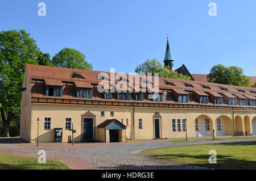
M138 74L145 73L159 73L159 77L166 77L166 78L178 78L178 79L186 79L190 80L191 78L188 76L184 76L183 74L178 74L177 71L171 71L168 66L164 67L161 62L152 59L147 60L143 64L138 65L135 69L135 72Z

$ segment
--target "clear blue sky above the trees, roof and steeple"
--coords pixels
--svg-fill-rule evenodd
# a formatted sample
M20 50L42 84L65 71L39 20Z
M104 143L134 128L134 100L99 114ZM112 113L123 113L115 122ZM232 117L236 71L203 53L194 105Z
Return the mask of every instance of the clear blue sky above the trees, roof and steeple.
M38 16L38 3L46 16ZM217 16L209 16L209 3ZM147 59L163 61L169 36L174 68L208 74L217 64L256 76L255 0L0 0L0 30L26 30L51 57L75 48L94 70L134 72Z

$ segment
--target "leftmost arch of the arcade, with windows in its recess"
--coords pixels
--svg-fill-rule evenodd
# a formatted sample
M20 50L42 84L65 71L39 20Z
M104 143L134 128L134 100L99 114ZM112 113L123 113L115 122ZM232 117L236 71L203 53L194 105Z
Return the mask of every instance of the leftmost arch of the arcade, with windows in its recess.
M212 119L207 115L200 115L195 119L196 137L211 136Z

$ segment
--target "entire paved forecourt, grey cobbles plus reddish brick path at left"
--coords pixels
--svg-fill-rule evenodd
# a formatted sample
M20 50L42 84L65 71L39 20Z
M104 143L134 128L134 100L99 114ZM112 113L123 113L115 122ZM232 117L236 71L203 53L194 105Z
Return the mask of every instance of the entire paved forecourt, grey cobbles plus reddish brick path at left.
M23 154L38 157L38 150L46 150L47 158L59 159L72 169L207 169L191 165L179 165L151 157L144 157L139 151L178 145L216 144L224 142L256 141L256 139L166 142L151 140L125 143L79 143L72 144L6 144L1 143L0 154Z

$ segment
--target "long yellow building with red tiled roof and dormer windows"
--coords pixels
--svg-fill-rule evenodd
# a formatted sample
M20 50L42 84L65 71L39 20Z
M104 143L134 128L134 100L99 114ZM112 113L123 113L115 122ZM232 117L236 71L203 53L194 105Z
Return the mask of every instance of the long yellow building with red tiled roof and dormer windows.
M185 138L256 134L256 89L170 78L26 65L20 136L28 142ZM114 76L114 81L110 77ZM110 85L98 90L100 82ZM127 91L112 89L127 83ZM139 82L139 86L135 83ZM159 85L157 96L147 84ZM113 87L112 87L113 86Z

